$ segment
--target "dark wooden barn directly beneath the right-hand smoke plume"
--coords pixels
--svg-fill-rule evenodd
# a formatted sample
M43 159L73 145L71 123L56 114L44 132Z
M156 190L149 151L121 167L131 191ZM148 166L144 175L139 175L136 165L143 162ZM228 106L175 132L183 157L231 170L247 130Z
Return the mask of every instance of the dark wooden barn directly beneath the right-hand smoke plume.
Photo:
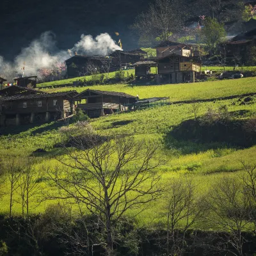
M84 56L75 55L65 60L67 65L67 76L77 77L92 74L92 70L97 72L106 72L106 65L110 65L110 58L103 56Z

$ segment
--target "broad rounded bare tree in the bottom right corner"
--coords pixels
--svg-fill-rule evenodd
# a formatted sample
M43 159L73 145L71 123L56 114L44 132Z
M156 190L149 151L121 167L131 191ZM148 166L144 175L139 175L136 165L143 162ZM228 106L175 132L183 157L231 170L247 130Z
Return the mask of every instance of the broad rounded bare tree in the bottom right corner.
M243 184L236 177L223 177L209 191L206 201L210 214L205 218L212 227L224 231L218 235L214 250L244 255L246 238L243 231L251 222L250 201L245 192Z

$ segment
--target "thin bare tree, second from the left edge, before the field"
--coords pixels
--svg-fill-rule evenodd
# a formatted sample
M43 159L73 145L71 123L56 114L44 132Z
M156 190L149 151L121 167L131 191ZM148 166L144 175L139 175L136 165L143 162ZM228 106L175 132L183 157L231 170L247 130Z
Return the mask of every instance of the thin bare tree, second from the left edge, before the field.
M22 164L22 170L19 176L19 195L21 198L20 204L22 205L22 216L29 218L29 205L30 201L38 195L39 185L38 180L42 177L40 169L35 168L36 159L35 157L26 157Z

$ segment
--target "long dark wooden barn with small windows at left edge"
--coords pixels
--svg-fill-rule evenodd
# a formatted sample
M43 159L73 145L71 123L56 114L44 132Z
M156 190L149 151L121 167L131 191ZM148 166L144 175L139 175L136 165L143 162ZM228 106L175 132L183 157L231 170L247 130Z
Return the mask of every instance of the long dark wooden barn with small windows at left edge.
M76 91L44 93L10 86L0 91L1 126L48 122L74 113Z

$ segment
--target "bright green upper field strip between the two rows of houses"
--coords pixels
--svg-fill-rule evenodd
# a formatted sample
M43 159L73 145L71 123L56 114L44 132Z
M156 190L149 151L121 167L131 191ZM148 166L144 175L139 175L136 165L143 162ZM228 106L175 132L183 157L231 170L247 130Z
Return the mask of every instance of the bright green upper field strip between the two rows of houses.
M125 92L131 95L138 95L140 99L148 97L170 97L171 101L191 99L212 99L256 92L255 77L243 79L223 80L202 83L186 84L164 84L156 86L131 86L129 84L111 84L84 87L65 87L58 89L47 89L45 92L63 92L77 90L82 92L87 88L92 90L104 90L113 92Z

